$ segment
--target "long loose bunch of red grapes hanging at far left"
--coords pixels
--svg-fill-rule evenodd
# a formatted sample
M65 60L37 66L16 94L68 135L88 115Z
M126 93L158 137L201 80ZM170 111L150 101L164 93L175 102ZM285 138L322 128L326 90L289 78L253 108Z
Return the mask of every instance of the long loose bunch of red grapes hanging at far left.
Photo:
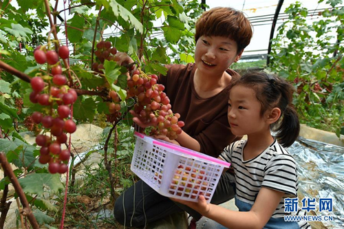
M49 164L50 173L67 172L67 162L70 152L61 149L61 144L67 142L66 133L74 133L76 124L72 119L68 119L71 113L70 105L77 98L76 91L69 88L67 78L63 75L59 57L68 58L69 50L67 46L61 46L58 52L47 50L45 46L39 46L34 51L34 59L37 63L47 63L47 75L35 76L31 79L32 93L30 101L38 103L44 107L41 113L34 111L32 120L36 124L41 124L45 131L36 136L36 144L41 146L39 162ZM57 107L57 108L55 108ZM46 132L50 131L50 134Z

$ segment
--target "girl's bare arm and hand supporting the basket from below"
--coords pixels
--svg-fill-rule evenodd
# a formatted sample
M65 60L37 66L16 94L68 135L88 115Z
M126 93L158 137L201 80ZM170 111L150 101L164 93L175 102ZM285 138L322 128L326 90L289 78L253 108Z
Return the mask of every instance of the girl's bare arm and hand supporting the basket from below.
M173 201L185 204L227 228L263 228L275 212L283 195L284 193L277 190L261 188L255 204L248 212L238 212L214 204L206 204L203 196L200 196L198 203L180 199L173 199Z

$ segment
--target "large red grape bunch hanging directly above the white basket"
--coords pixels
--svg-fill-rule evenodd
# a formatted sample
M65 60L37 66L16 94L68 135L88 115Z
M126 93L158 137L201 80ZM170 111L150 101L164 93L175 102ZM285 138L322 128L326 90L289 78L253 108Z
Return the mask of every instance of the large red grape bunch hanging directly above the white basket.
M138 118L153 127L151 135L163 134L175 140L182 133L183 121L178 121L179 113L173 113L169 97L164 93L164 85L157 83L158 76L147 75L140 69L133 71L128 80L128 96L136 96L138 103L134 107Z

